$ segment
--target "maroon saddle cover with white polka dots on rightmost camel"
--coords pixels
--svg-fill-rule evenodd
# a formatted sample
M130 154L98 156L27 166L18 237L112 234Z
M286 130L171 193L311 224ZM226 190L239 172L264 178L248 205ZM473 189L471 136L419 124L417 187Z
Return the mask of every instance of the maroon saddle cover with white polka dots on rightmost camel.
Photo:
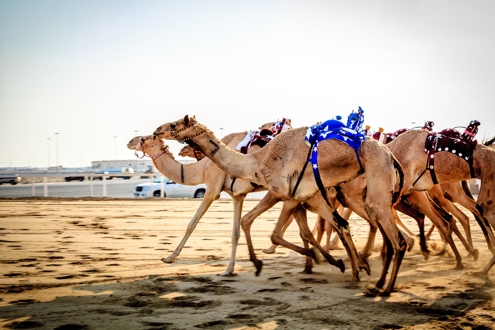
M433 183L438 183L437 176L435 175L435 153L440 151L446 151L464 159L469 165L471 177L475 177L473 151L478 144L478 141L474 140L474 137L478 132L479 125L480 122L478 120L473 120L469 123L469 126L466 127L463 133L454 128L447 128L437 133L428 132L425 141L425 153L428 154L425 171L430 171ZM421 175L423 175L423 173ZM421 175L419 177L421 177ZM416 179L416 181L418 179ZM414 183L416 183L416 181Z

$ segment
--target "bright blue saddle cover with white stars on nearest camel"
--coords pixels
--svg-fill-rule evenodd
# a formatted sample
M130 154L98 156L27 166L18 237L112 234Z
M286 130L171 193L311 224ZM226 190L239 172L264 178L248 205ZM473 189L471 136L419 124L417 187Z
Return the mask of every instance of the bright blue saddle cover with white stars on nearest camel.
M318 142L327 139L337 139L346 142L352 149L356 151L357 161L362 169L361 161L359 160L359 148L362 142L366 138L366 134L363 130L364 115L363 110L359 107L358 112L350 113L347 117L347 124L340 120L330 119L321 124L311 126L306 131L305 141L306 144L311 146L314 140L313 150L311 151L311 162L313 167L313 174L316 181L321 181L320 173L318 170Z

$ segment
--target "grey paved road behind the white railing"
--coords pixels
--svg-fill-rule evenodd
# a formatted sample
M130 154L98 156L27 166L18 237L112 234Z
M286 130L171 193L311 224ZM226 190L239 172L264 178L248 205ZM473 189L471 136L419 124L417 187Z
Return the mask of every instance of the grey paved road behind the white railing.
M148 183L150 179L130 178L129 180L117 179L106 180L107 197L133 197L136 185ZM71 181L71 182L49 182L48 197L88 197L90 196L90 181ZM43 196L44 183L35 184L34 196ZM266 192L256 192L247 195L247 198L263 198ZM1 184L0 197L26 197L32 195L32 184ZM103 196L103 181L93 181L93 197ZM222 192L220 198L230 198Z

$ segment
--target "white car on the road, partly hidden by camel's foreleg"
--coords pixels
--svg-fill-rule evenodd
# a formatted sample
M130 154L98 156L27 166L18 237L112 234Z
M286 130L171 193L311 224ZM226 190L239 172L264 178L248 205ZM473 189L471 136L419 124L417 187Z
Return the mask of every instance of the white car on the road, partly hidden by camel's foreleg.
M160 176L154 179L153 187L151 187L151 183L138 184L134 190L134 197L160 197L160 180ZM164 197L203 198L204 192L206 191L206 185L204 183L195 186L187 186L174 182L165 176L163 177L163 181Z

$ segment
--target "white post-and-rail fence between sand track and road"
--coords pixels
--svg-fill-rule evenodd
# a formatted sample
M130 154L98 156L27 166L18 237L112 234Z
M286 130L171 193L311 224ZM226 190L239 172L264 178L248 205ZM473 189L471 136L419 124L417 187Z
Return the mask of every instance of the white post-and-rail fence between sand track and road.
M43 196L48 197L48 178L49 177L66 177L66 176L88 176L91 177L90 179L90 197L93 196L93 178L94 177L102 177L103 178L103 191L102 195L103 197L106 197L106 177L107 176L149 176L150 177L150 182L151 186L153 186L153 180L155 179L156 176L161 175L161 180L160 180L160 197L163 197L164 194L164 178L162 174L159 173L59 173L59 174L48 174L48 173L43 173L43 174L22 174L22 178L31 178L31 196L35 196L36 188L35 188L35 179L37 177L43 177ZM14 176L14 175L12 175ZM18 175L15 175L18 176ZM150 196L153 197L153 196Z

